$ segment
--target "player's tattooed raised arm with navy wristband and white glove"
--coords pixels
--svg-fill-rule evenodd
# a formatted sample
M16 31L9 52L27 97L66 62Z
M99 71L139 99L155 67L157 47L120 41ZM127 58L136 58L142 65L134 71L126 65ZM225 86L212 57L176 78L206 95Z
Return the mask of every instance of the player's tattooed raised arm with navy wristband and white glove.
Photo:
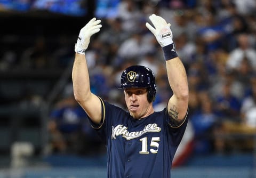
M170 29L171 24L155 14L150 15L149 19L154 27L149 23L146 23L146 26L162 46L166 60L167 76L173 91L173 95L167 105L168 114L179 123L186 116L188 110L186 70L175 51Z

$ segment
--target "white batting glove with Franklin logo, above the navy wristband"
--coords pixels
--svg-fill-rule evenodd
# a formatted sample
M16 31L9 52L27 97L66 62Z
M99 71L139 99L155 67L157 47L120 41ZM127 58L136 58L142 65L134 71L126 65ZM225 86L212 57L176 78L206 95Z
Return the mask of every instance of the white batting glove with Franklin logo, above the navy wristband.
M146 27L155 35L157 42L162 47L172 44L172 31L170 29L171 24L167 23L162 17L156 14L150 15L149 19L155 28L152 27L148 22L146 23Z

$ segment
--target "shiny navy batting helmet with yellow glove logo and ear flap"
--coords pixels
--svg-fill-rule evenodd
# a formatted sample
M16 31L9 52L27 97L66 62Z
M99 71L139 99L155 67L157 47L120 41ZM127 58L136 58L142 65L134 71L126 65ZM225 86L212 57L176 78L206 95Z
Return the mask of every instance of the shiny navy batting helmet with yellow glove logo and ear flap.
M143 87L148 90L148 102L153 102L156 97L155 76L151 69L145 66L131 66L126 68L121 75L119 89L130 87Z

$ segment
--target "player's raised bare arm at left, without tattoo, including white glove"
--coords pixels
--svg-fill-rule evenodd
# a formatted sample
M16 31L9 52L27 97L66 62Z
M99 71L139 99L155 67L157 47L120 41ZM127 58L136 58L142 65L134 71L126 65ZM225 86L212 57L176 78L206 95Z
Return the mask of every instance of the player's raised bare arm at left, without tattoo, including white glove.
M98 33L100 28L100 20L93 18L80 30L75 45L76 54L72 70L75 99L95 124L99 124L101 121L101 103L98 96L91 93L90 90L85 50L90 43L90 37Z

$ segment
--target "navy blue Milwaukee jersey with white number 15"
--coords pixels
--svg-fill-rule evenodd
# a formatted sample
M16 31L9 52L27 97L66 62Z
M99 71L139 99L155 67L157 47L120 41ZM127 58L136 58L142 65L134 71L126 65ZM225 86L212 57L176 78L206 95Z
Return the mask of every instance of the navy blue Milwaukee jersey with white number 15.
M187 119L172 127L166 108L143 119L102 101L101 125L92 126L107 145L108 177L170 177Z

